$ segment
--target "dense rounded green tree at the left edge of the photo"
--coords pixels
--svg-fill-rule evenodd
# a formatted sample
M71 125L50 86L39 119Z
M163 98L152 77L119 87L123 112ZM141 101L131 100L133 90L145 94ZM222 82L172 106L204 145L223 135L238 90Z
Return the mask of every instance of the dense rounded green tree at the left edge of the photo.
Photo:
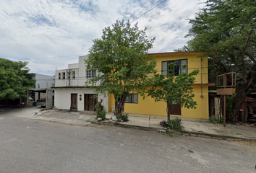
M27 62L14 62L0 58L0 100L27 97L27 89L34 81L27 76Z

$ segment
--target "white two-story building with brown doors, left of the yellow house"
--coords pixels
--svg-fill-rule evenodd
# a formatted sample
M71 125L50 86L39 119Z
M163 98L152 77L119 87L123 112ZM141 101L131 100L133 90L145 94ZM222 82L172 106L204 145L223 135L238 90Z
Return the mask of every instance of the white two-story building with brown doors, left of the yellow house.
M103 99L104 111L108 112L108 95L98 94L95 97L93 88L85 87L85 81L97 75L85 69L85 59L80 56L79 62L69 64L68 69L56 70L54 105L58 109L94 111L95 104Z

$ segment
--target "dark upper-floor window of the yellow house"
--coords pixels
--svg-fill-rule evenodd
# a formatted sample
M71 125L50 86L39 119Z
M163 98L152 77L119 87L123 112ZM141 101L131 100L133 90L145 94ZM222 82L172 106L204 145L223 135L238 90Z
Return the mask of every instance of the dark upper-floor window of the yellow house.
M179 74L187 74L187 67L183 68L182 66L187 65L187 59L184 60L175 60L175 61L163 61L162 62L162 74L168 74L170 70L169 64L176 63L174 66L174 76L178 76Z

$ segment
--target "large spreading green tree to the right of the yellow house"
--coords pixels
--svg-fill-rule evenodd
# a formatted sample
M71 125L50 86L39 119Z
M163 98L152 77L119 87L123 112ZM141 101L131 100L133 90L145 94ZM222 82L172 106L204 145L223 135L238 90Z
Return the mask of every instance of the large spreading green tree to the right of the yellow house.
M244 98L256 92L256 1L208 0L189 22L191 40L186 48L205 51L211 75L236 72L236 99L229 119L236 122Z

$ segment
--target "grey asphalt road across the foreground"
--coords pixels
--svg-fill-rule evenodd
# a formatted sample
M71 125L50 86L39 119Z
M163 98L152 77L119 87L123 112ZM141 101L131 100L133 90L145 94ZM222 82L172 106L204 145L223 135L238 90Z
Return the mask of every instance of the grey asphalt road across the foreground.
M0 172L256 172L255 146L0 115Z

